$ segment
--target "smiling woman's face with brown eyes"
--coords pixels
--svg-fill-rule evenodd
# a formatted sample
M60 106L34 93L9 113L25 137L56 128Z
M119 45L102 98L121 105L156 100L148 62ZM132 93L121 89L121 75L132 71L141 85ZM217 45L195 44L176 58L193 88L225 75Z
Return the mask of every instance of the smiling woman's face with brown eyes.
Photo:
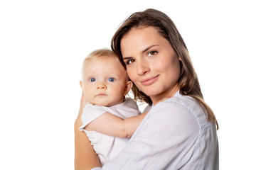
M168 40L156 28L133 28L121 40L127 74L154 104L178 90L180 64Z

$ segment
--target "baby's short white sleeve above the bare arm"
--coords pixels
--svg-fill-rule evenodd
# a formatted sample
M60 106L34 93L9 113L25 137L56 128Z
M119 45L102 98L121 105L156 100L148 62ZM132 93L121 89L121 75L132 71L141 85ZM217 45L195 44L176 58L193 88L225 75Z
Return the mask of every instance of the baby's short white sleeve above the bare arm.
M82 126L79 130L84 130L86 125L91 123L93 120L98 118L100 115L106 113L107 111L102 106L92 105L87 103L85 108L82 110Z

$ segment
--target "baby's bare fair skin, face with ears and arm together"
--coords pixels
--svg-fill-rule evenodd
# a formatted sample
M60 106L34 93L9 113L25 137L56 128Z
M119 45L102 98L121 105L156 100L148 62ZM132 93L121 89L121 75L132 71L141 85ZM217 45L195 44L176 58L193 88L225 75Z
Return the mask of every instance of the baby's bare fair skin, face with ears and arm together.
M132 81L128 81L127 72L117 57L101 57L85 61L80 86L85 101L98 106L113 106L124 101L124 96L132 88ZM85 129L116 137L131 137L145 115L123 120L104 113Z

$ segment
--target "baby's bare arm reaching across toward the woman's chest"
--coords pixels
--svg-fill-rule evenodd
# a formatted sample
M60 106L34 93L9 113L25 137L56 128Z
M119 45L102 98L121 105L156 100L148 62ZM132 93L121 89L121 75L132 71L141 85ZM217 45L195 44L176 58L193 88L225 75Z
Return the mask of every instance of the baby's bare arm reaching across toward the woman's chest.
M137 130L139 124L142 123L146 113L123 120L117 115L106 112L87 124L85 130L94 130L116 137L131 137L135 130Z

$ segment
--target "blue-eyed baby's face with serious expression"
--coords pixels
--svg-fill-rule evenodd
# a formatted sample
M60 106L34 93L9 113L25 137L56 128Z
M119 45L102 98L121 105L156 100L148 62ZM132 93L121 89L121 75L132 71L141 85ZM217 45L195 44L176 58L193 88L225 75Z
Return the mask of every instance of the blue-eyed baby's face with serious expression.
M87 102L99 106L122 103L127 72L114 57L87 60L83 65L82 89Z

